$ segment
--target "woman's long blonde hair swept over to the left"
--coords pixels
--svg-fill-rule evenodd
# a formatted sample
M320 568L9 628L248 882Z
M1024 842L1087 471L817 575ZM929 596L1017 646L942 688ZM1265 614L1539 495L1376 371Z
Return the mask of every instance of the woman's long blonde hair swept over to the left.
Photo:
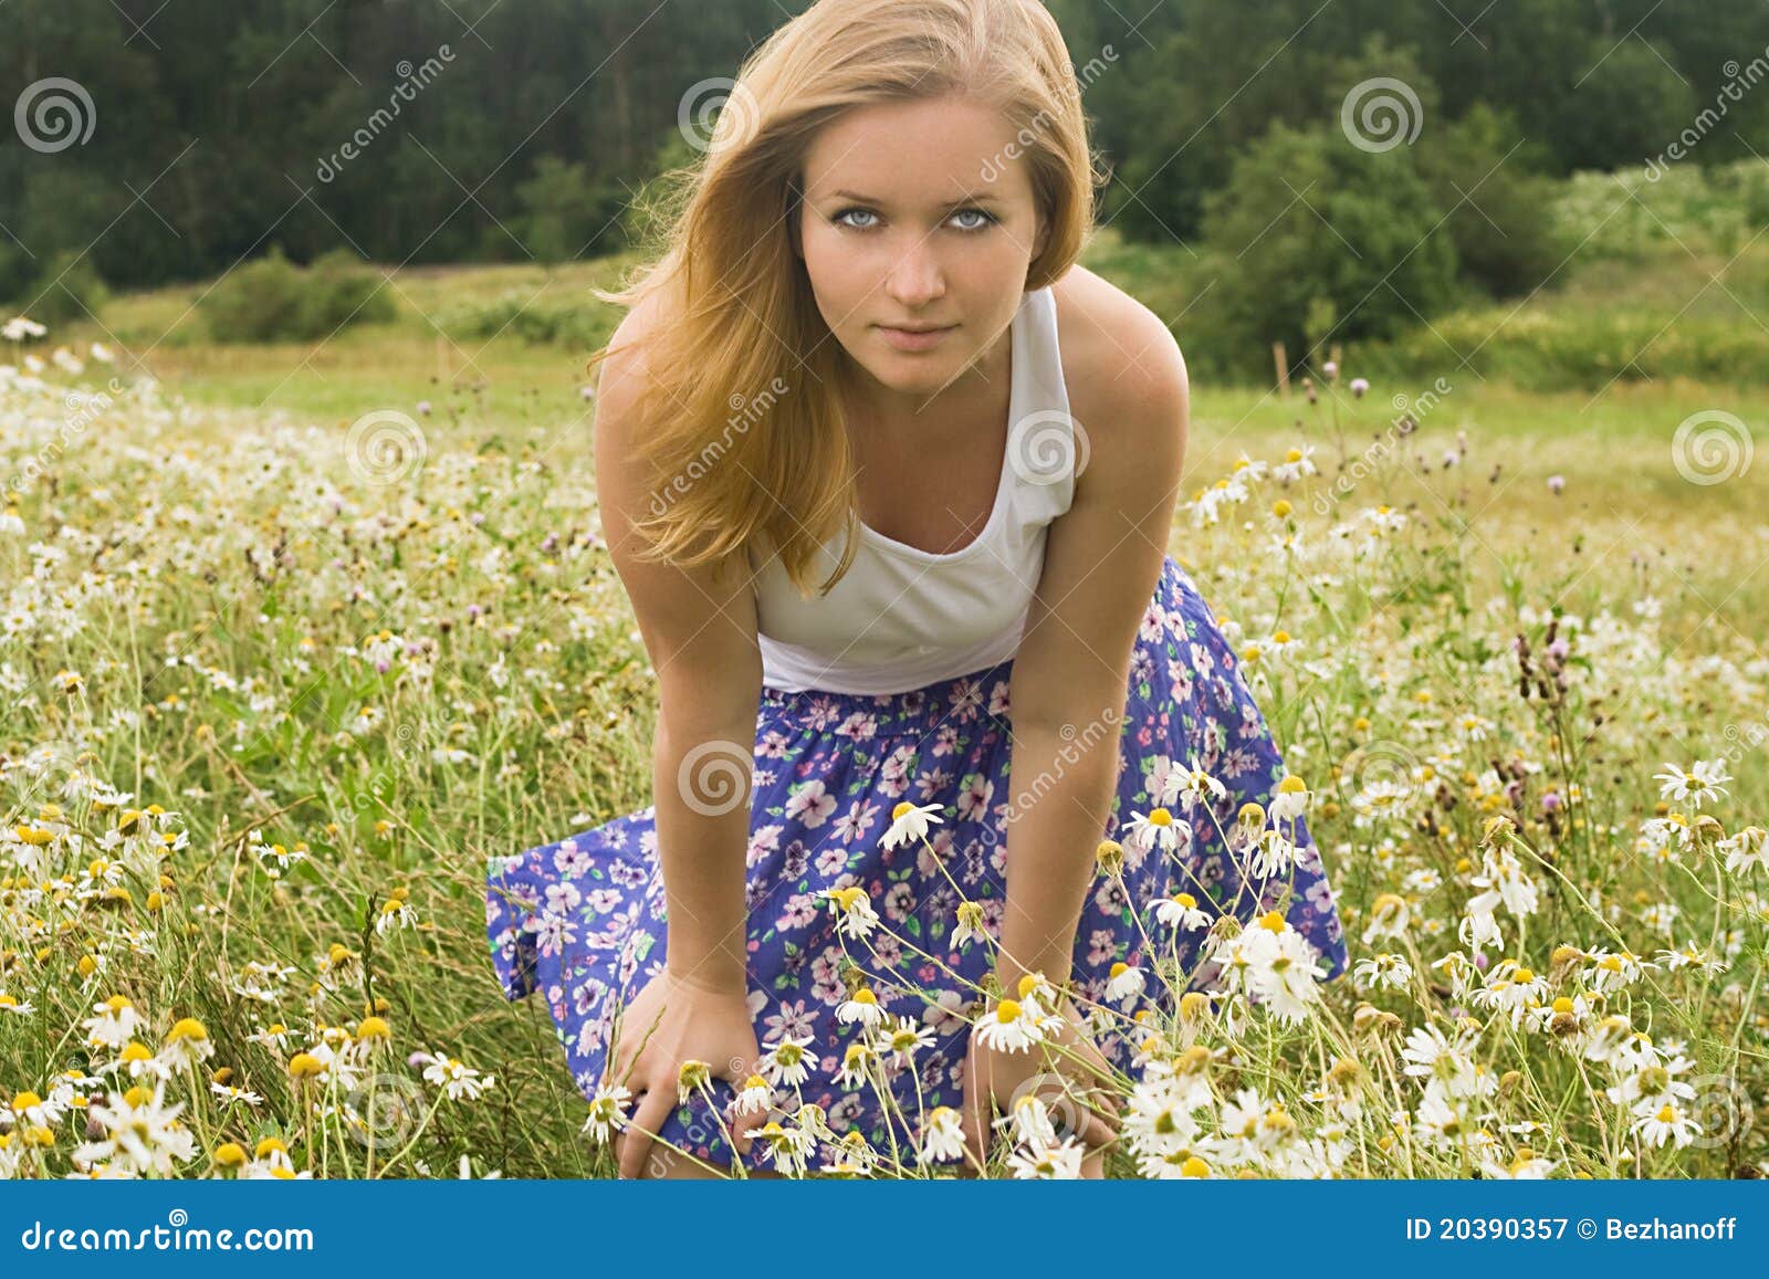
M663 251L619 292L674 304L646 336L639 451L653 476L639 554L720 564L766 538L793 584L846 532L858 538L854 458L833 341L794 253L803 157L844 111L964 94L999 110L1026 157L1044 244L1024 288L1058 280L1093 226L1104 173L1056 19L1037 0L817 0L743 64L711 143L665 175L676 189ZM586 364L610 354L603 347Z

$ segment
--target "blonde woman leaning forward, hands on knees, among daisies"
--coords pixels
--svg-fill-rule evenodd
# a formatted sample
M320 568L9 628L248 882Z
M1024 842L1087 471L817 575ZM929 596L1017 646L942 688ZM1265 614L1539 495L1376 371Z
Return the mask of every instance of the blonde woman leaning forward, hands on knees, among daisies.
M1185 364L1076 265L1095 184L1038 4L821 0L609 295L596 465L655 807L494 858L488 932L623 1176L976 1169L1028 1095L1099 1176L1100 1084L1141 1067L1139 1008L1208 989L1205 925L1344 969L1166 555Z

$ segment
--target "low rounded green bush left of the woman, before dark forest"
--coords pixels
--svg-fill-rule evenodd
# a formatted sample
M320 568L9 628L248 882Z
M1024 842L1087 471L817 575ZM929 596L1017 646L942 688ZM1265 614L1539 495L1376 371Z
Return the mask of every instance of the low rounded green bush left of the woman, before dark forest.
M302 271L280 246L225 276L200 303L214 341L313 341L398 315L384 281L348 249Z

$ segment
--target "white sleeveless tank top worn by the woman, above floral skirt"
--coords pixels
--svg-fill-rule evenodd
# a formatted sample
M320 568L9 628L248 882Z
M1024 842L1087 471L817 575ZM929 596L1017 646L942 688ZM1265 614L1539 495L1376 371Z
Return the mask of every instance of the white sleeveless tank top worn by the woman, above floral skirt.
M1049 287L1021 299L1010 348L1008 442L989 524L959 550L932 554L862 522L847 573L808 600L770 555L754 582L766 688L897 693L1019 651L1047 527L1074 497L1074 425ZM814 582L840 563L839 538L819 548Z

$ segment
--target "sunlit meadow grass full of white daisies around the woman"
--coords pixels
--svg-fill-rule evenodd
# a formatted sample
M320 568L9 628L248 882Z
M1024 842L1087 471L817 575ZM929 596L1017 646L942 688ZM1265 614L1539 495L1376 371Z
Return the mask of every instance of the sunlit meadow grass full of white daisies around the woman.
M317 350L180 338L200 288L161 290L106 313L117 364L0 375L0 1173L612 1173L483 927L488 856L649 801L587 352L423 318L612 271L400 272L409 315ZM1355 973L1309 992L1224 929L1245 984L1145 1014L1109 1171L1769 1171L1765 479L1673 442L1750 412L1357 373L1194 384L1169 545ZM1668 798L1696 761L1725 794Z

